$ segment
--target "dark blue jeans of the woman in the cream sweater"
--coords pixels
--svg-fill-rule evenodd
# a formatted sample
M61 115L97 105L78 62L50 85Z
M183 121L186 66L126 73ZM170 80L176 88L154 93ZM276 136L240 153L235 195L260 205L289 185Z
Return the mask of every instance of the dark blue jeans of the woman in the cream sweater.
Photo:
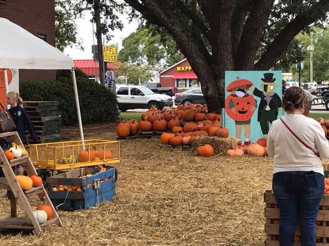
M300 245L315 246L315 221L324 194L324 176L313 171L275 173L272 189L280 209L280 246L294 245L298 217Z

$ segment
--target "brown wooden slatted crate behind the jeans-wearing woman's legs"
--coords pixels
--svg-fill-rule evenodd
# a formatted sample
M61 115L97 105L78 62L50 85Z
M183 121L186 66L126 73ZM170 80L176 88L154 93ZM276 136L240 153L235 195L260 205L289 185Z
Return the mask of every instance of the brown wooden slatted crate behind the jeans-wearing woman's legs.
M264 193L265 206L265 232L266 246L279 246L279 216L277 200L272 191ZM297 225L296 236L300 236L300 229ZM300 246L300 242L295 242L295 246ZM329 195L324 195L320 202L320 210L317 217L317 246L329 246Z

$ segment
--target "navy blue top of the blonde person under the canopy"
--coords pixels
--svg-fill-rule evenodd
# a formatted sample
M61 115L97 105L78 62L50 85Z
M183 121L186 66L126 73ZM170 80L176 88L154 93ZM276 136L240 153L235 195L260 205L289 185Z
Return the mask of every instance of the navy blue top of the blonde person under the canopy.
M13 131L19 133L23 144L26 144L26 129L29 131L34 142L38 142L38 137L35 134L32 122L26 111L20 105L17 105L16 107L9 109L8 112L16 125L16 129Z

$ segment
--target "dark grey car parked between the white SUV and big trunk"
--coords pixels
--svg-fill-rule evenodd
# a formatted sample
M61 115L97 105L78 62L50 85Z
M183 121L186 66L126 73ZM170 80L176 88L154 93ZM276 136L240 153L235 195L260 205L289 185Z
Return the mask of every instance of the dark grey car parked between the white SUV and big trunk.
M176 93L175 105L183 104L206 104L206 99L200 87L195 87L187 91Z

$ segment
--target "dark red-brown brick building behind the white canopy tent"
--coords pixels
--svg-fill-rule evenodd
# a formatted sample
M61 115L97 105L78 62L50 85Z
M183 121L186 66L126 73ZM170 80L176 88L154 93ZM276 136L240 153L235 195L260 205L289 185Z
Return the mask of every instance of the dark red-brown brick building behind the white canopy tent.
M54 0L0 0L0 17L55 46ZM5 37L4 37L5 38ZM55 70L20 69L20 80L54 80Z

